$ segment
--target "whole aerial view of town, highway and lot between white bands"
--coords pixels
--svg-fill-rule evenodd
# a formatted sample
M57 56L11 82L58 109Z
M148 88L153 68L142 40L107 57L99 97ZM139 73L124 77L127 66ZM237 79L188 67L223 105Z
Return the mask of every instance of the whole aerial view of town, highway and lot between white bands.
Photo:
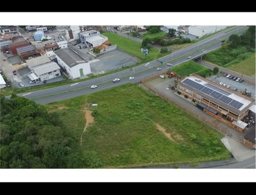
M3 169L255 168L255 26L0 25L0 46Z

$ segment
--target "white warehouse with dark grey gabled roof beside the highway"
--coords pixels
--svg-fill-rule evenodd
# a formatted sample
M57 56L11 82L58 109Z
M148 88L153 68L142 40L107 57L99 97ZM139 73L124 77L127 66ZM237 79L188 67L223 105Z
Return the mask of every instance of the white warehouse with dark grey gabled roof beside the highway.
M55 51L57 63L71 79L77 79L91 73L91 65L70 48Z

